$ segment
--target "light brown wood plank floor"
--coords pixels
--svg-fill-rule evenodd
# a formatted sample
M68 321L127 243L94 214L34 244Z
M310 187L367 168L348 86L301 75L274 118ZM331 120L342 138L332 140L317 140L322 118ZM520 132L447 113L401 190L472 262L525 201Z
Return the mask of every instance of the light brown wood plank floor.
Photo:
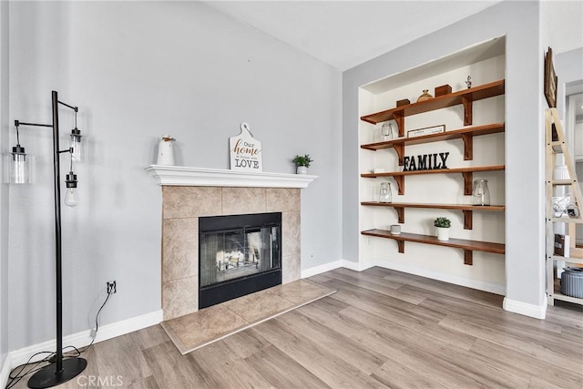
M540 321L503 311L501 296L382 268L310 280L338 292L186 355L159 325L97 343L81 381L60 387L90 375L134 388L583 387L580 306Z

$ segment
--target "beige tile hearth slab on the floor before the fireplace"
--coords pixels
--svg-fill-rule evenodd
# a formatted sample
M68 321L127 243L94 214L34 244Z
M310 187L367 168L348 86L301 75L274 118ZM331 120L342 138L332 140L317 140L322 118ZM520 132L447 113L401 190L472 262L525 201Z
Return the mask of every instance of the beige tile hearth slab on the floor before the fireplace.
M182 354L290 312L336 291L298 280L161 322Z

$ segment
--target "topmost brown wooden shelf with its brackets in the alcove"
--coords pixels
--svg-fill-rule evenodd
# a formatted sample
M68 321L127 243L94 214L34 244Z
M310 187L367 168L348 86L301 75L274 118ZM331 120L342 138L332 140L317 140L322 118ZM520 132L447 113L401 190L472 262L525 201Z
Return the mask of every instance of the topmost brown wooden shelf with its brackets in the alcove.
M449 93L444 96L430 98L429 100L424 100L418 103L407 104L406 106L394 107L392 109L365 115L361 117L361 120L371 124L377 124L394 119L399 128L399 137L403 137L404 118L433 111L435 109L454 107L462 104L464 106L464 126L471 126L472 102L483 98L501 96L504 95L504 93L505 80L502 79L489 84L460 90L455 93Z

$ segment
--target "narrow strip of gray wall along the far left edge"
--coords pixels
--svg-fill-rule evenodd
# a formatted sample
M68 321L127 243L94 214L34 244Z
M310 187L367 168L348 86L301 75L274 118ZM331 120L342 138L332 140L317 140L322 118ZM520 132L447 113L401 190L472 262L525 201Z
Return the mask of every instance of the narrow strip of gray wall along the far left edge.
M9 147L8 129L8 2L0 2L0 149L3 152ZM3 163L4 159L0 164ZM8 186L0 184L0 368L8 351Z

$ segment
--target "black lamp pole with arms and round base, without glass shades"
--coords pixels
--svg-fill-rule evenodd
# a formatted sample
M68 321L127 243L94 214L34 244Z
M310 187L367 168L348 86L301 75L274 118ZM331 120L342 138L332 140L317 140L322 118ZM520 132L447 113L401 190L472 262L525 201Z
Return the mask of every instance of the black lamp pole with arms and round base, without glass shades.
M63 359L63 285L61 265L61 172L59 154L71 152L71 149L59 150L58 145L58 105L76 109L58 101L57 93L53 94L53 124L35 124L17 122L17 125L52 127L53 128L53 166L55 176L55 250L56 250L56 362L50 363L33 374L28 380L28 387L48 388L63 384L76 377L87 367L87 360L83 358Z

